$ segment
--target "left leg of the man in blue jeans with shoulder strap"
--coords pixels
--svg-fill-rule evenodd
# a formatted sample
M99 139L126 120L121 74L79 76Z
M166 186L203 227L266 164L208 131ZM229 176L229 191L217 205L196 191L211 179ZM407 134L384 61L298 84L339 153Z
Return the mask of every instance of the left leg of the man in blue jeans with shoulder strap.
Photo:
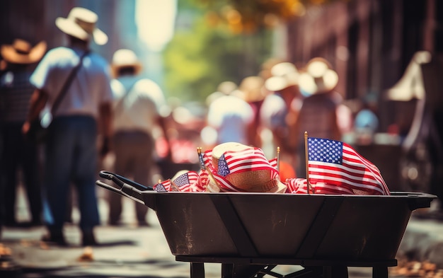
M50 232L49 241L64 244L62 228L71 180L76 138L75 122L70 117L55 118L46 143L45 176L42 187L43 218Z

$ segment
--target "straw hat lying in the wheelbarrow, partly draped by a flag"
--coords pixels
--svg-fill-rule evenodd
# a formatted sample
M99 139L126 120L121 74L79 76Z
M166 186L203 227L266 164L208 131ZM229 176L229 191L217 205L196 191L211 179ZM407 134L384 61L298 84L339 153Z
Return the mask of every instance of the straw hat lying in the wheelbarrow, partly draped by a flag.
M226 151L245 151L251 150L251 154L262 154L258 148L253 148L251 146L246 146L236 142L227 142L219 144L212 149L212 171L214 174L219 173L219 161ZM236 156L236 154L233 154ZM263 155L264 156L264 155ZM238 154L238 158L235 159L236 163L251 163L255 158L251 155L246 155L244 153ZM263 162L263 161L261 161ZM241 172L234 172L227 174L224 178L234 185L239 190L246 192L276 192L284 193L287 189L286 185L280 182L280 179L273 177L272 174L275 169L272 168L270 163L268 165L260 167L258 170L246 170Z

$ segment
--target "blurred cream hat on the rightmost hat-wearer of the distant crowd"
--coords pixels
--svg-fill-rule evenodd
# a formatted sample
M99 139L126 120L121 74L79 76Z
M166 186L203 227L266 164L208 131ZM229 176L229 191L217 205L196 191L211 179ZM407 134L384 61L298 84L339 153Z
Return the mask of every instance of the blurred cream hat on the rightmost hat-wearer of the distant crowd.
M302 92L313 95L328 93L338 83L338 74L331 69L326 59L316 57L306 64L306 71L299 76L299 88Z

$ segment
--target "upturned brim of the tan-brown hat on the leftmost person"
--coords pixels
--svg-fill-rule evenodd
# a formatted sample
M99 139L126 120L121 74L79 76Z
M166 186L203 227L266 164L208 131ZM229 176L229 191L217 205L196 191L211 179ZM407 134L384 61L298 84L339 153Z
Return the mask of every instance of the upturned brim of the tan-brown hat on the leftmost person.
M29 53L23 54L16 51L13 45L2 45L1 56L6 62L14 64L33 64L40 61L46 52L46 42L39 42Z

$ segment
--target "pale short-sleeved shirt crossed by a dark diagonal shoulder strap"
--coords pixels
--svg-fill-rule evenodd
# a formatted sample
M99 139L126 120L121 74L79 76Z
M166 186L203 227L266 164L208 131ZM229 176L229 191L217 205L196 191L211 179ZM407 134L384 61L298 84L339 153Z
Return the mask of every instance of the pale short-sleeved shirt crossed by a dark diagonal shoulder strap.
M79 63L84 50L56 47L45 55L30 77L36 88L48 93L52 106L72 69ZM101 103L112 101L110 68L100 55L91 52L84 57L76 77L53 116L91 115L98 117Z

